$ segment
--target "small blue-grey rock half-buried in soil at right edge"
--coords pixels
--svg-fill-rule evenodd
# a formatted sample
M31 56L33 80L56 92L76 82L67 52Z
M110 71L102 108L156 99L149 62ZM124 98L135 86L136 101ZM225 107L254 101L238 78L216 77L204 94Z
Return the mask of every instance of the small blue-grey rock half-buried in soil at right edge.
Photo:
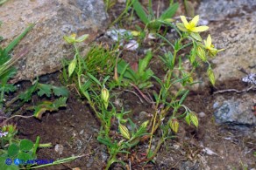
M215 102L218 102L219 106L214 112L217 123L231 126L256 126L256 116L252 111L255 99L255 95L249 93L242 94L239 98L217 97Z

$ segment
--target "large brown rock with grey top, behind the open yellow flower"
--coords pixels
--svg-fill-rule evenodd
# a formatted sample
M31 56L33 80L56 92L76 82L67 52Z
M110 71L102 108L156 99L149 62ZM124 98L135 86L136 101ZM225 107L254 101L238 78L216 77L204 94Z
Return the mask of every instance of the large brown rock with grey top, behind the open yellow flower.
M197 10L200 17L213 21L208 31L213 44L225 49L212 59L218 81L244 77L238 67L256 72L255 7L253 0L204 0Z

